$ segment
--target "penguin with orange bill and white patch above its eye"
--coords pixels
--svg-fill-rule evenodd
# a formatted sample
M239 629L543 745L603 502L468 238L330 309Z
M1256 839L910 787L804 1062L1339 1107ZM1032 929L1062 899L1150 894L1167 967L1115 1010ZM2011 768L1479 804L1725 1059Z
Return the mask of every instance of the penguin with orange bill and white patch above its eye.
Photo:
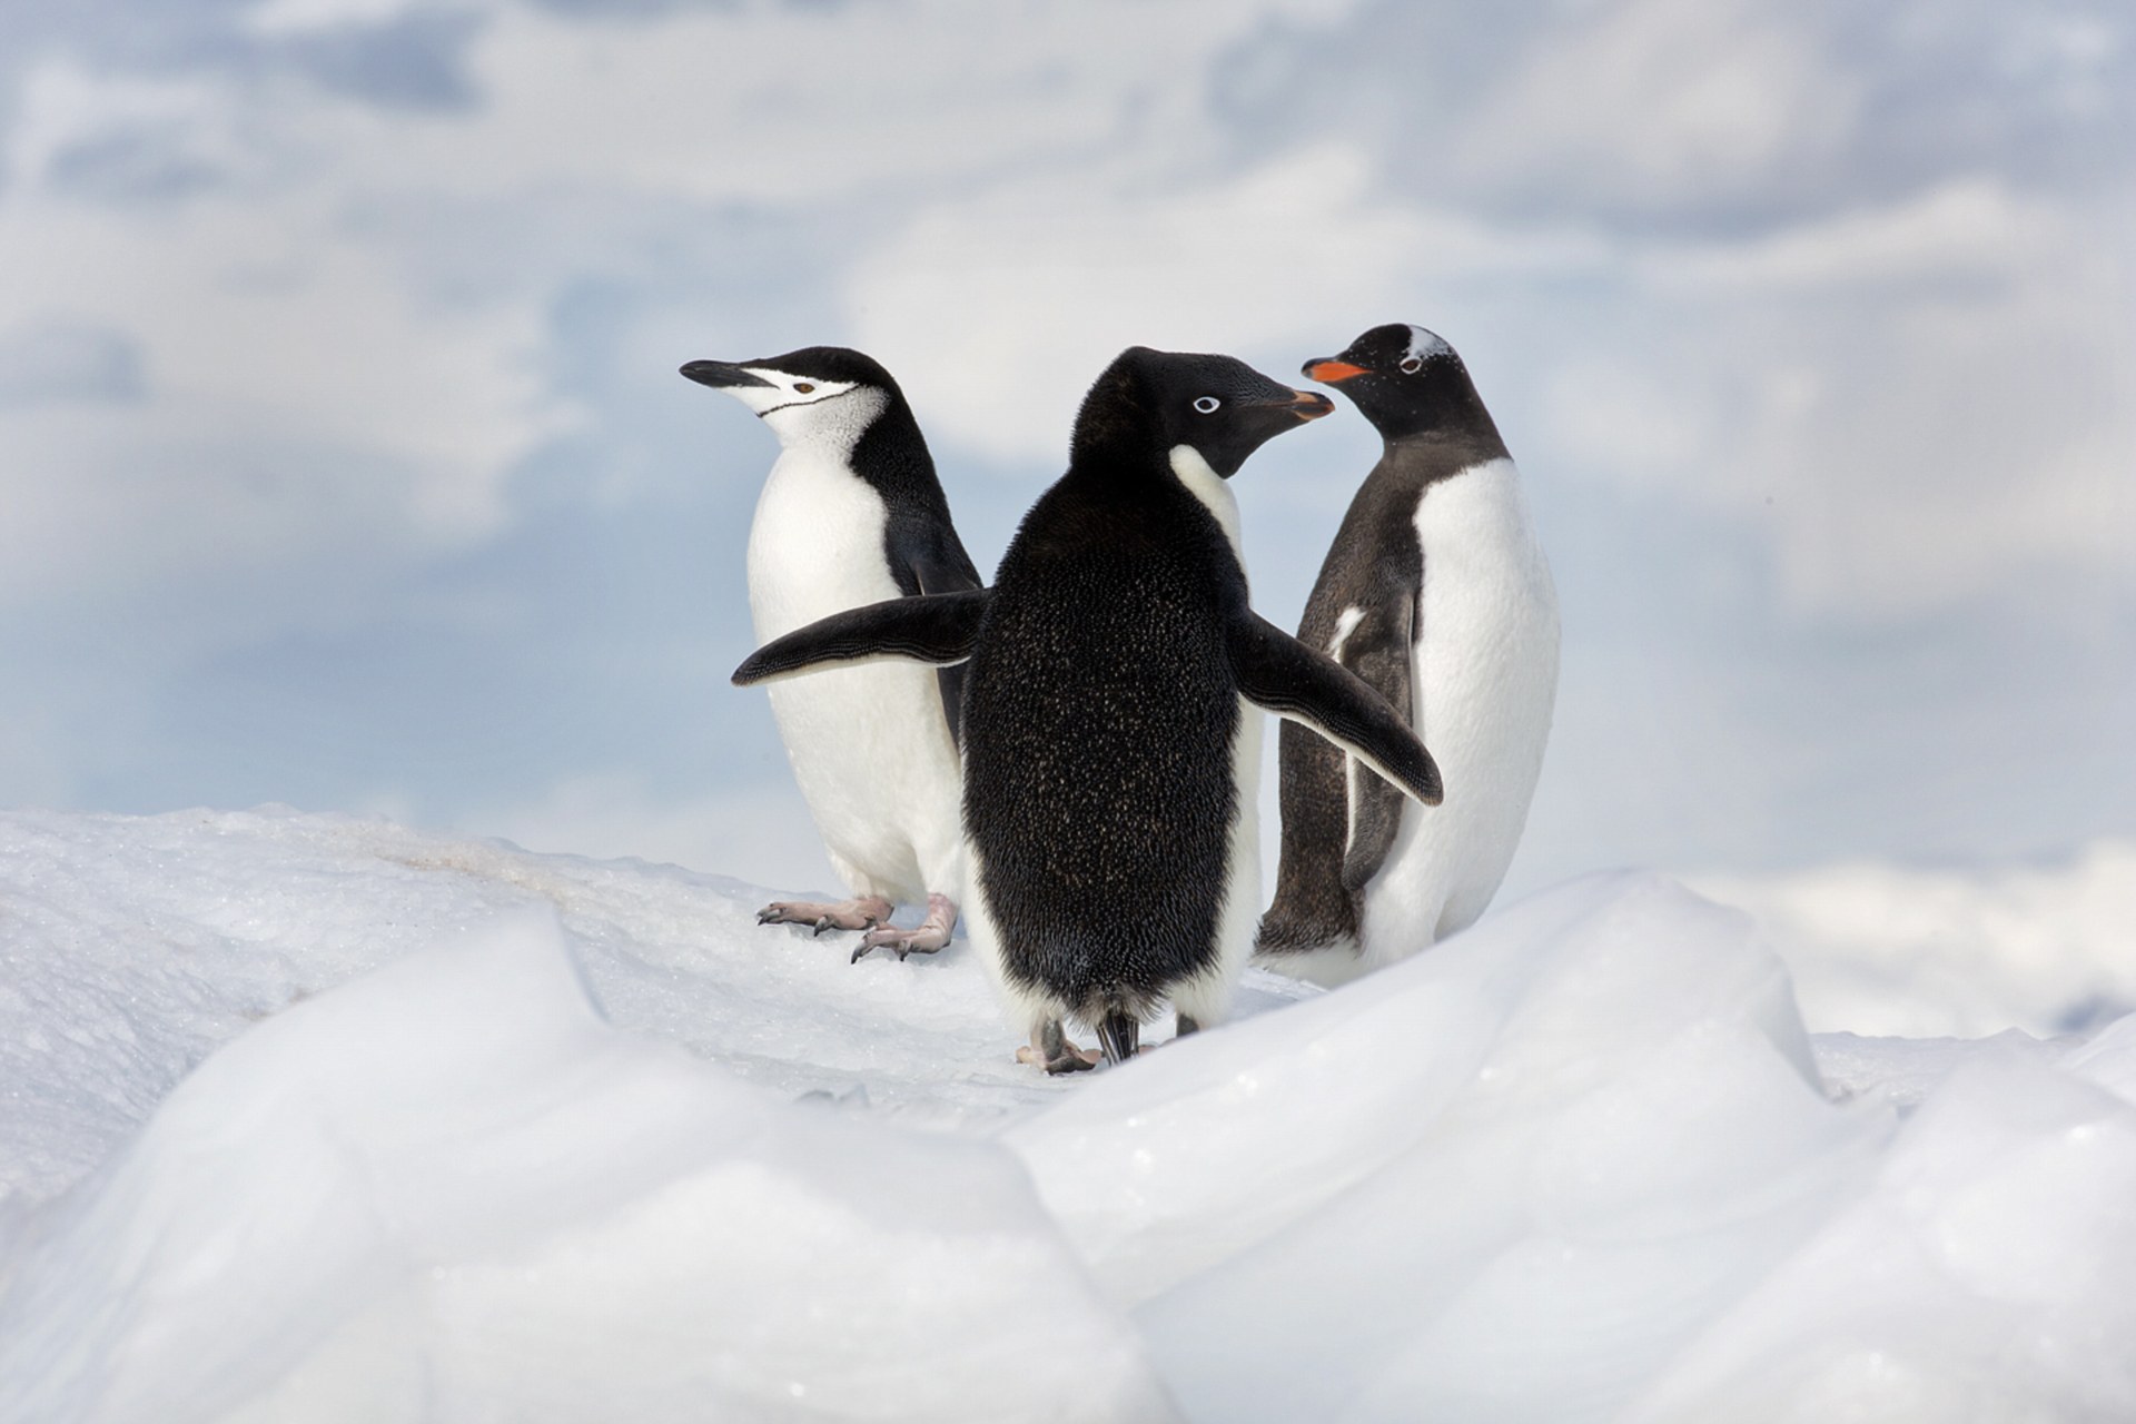
M1446 777L1427 813L1284 728L1284 852L1256 963L1339 984L1482 914L1521 841L1557 696L1557 591L1521 474L1455 348L1373 327L1305 374L1386 442L1299 638L1410 717Z

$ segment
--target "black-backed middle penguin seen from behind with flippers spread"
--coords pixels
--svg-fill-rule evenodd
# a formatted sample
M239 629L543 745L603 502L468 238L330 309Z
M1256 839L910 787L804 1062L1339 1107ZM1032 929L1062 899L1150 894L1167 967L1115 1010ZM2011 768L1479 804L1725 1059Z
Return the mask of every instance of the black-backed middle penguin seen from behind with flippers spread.
M1258 897L1254 702L1335 739L1412 796L1438 773L1365 683L1247 606L1226 480L1333 410L1230 357L1130 348L1074 423L1068 474L1023 517L993 587L824 619L737 683L829 662L965 664L965 922L1030 1027L1017 1053L1109 1061L1171 999L1222 1020Z

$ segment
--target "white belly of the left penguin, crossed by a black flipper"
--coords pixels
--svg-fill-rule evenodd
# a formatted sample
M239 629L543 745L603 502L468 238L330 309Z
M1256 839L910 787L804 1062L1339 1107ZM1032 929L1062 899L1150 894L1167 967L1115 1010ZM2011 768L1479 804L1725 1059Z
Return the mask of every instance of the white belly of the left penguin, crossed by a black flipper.
M750 525L750 615L767 643L820 617L897 598L886 510L844 463L780 455ZM854 895L961 899L961 771L936 670L833 668L767 687L795 784Z

